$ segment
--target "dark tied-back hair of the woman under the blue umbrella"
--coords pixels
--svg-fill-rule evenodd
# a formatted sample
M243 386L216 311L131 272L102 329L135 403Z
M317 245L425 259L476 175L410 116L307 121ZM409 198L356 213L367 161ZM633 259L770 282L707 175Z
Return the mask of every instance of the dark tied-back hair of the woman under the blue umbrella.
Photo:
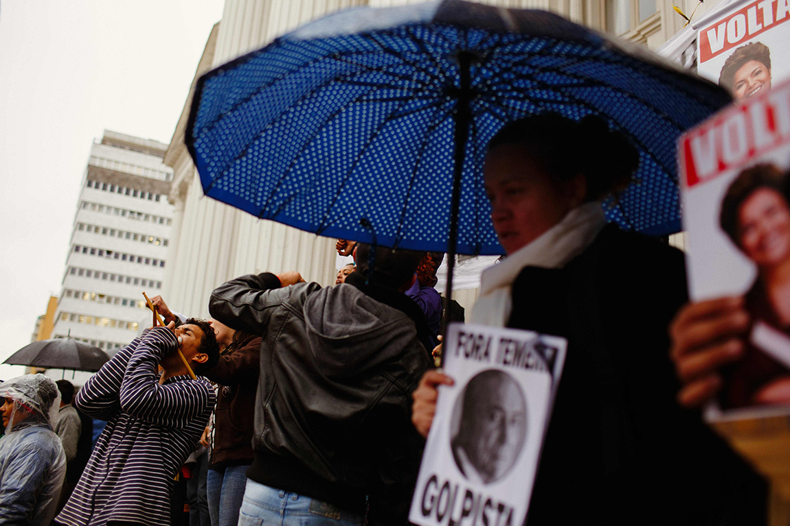
M584 173L588 201L622 192L639 167L639 153L626 136L594 115L581 121L554 112L522 118L500 129L488 151L505 144L523 146L557 182Z

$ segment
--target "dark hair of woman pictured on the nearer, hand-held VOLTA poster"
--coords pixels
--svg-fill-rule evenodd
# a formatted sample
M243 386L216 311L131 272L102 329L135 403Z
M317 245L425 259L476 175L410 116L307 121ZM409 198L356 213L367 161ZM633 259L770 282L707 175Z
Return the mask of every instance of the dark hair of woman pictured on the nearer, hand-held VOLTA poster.
M785 191L787 184L784 173L777 166L768 162L761 162L741 170L738 177L730 183L724 199L721 200L721 210L719 212L719 225L724 233L740 247L739 241L739 211L743 201L747 200L755 190L759 188L770 188L776 190L787 199Z

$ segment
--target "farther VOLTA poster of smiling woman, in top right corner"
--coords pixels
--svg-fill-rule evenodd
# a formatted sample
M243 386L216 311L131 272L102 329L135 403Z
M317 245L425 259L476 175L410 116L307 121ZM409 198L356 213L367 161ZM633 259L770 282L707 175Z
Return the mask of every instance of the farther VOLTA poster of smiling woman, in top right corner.
M790 0L735 2L696 27L698 73L736 102L790 78Z

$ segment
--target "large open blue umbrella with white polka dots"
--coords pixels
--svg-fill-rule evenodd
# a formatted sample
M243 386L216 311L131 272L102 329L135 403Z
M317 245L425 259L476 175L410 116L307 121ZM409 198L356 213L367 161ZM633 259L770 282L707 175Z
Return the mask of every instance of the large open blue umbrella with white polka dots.
M608 218L663 235L679 230L675 141L730 101L551 13L444 0L349 9L206 73L186 135L206 195L259 218L500 254L482 166L506 122L605 118L641 157L621 200L604 204Z

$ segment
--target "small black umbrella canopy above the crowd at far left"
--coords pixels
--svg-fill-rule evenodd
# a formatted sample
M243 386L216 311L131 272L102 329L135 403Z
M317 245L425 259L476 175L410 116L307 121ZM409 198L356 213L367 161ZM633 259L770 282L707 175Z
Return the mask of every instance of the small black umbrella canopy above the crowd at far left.
M25 345L3 364L96 372L109 360L110 356L97 347L71 338L55 338Z

